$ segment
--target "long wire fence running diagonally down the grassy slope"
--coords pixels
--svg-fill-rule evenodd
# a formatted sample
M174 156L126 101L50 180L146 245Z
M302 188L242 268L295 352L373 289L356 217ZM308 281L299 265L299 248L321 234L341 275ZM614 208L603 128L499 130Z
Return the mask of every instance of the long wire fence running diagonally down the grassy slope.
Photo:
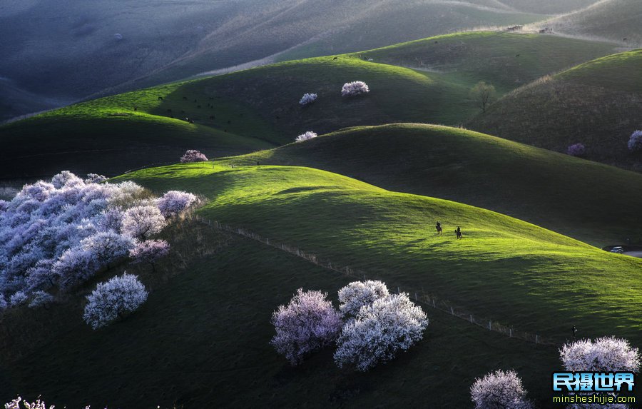
M384 281L381 278L374 277L365 271L358 270L355 268L350 268L350 266L342 266L340 263L333 263L327 258L321 258L316 254L302 251L300 248L297 248L296 246L290 246L285 243L278 243L277 241L270 240L270 238L260 236L257 233L254 233L253 231L248 231L247 229L244 229L244 228L228 226L227 224L223 224L218 221L212 221L210 219L202 218L193 213L188 217L193 218L193 220L198 221L199 223L204 223L213 228L217 228L218 230L226 231L228 233L233 233L235 235L243 236L245 238L250 238L251 240L254 240L254 241L259 241L260 243L263 243L267 246L277 248L280 251L285 251L285 253L290 253L294 256L302 258L305 261L315 264L315 266L320 266L327 270L335 271L337 273L342 273L345 276L356 278L358 280L363 279L363 280ZM444 313L460 318L462 320L466 320L467 322L477 325L486 330L493 331L496 333L501 333L502 335L505 335L506 337L509 337L509 338L524 340L526 342L534 343L537 345L559 346L562 344L561 342L558 342L553 338L542 337L537 333L531 333L528 331L519 330L519 329L513 328L511 325L504 325L502 323L499 323L499 321L496 321L496 320L479 317L478 315L473 314L471 311L467 310L466 308L463 308L461 306L454 306L452 303L449 303L449 301L437 298L432 294L426 293L423 290L419 291L416 288L406 288L406 287L401 288L400 286L398 286L397 293L402 293L402 292L407 293L410 298L414 298L414 301L417 301L417 303L422 303L424 306L428 306L430 308L440 310Z

